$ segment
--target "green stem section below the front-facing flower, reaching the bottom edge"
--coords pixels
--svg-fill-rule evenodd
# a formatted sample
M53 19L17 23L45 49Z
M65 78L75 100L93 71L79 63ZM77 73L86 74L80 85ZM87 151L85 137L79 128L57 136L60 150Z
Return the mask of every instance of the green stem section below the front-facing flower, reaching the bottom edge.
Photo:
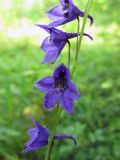
M60 119L60 115L61 115L61 107L57 106L57 114L56 114L56 119L55 119L55 124L53 126L53 130L50 134L50 137L48 139L48 151L47 151L47 154L46 154L46 157L45 157L45 160L50 160L50 157L51 157L51 152L52 152L52 149L53 149L53 145L54 145L54 134L56 132L56 129L57 129L57 125L58 125L58 121Z

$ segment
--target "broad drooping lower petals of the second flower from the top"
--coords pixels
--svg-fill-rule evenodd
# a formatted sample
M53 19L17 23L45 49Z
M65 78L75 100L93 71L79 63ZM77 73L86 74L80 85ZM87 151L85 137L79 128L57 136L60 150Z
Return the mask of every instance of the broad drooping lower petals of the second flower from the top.
M41 49L46 53L42 63L54 63L65 46L65 43L65 41L58 41L55 39L52 41L50 37L47 37L41 46Z

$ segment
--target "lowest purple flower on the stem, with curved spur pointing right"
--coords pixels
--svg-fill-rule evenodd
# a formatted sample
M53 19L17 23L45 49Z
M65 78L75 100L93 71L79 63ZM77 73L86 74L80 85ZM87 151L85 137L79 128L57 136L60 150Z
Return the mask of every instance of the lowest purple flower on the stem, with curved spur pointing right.
M34 119L33 123L35 125L35 128L28 129L28 134L30 136L30 139L25 143L26 148L25 150L22 151L22 153L36 150L48 144L48 138L50 136L50 132L46 128L41 126L38 122L36 122ZM64 139L64 138L72 139L76 144L76 140L72 136L66 134L54 135L54 140Z

